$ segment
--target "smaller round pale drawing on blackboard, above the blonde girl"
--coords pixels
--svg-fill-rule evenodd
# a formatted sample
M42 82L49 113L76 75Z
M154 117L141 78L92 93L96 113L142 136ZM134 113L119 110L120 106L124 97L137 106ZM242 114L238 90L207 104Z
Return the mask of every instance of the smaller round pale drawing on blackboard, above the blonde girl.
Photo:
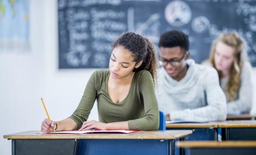
M196 17L192 21L192 29L196 33L204 33L209 28L210 28L210 21L204 16Z

